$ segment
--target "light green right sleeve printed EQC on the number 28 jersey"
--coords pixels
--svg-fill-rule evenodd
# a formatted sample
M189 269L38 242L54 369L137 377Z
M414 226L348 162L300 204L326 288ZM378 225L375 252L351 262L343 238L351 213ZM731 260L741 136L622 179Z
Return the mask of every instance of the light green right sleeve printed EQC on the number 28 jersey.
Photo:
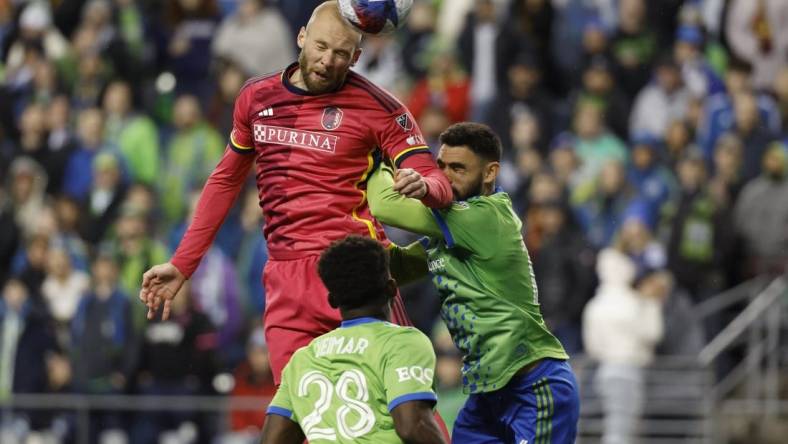
M408 401L435 403L435 352L429 338L414 328L393 335L382 362L388 410Z

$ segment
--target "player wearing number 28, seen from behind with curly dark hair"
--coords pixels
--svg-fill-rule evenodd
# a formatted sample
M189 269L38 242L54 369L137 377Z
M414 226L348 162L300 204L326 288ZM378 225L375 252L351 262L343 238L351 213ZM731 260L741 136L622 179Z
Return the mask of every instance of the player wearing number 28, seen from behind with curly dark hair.
M396 256L396 254L394 254ZM318 262L341 326L295 352L268 407L262 442L445 443L435 420L435 353L387 322L397 282L372 239L334 242Z

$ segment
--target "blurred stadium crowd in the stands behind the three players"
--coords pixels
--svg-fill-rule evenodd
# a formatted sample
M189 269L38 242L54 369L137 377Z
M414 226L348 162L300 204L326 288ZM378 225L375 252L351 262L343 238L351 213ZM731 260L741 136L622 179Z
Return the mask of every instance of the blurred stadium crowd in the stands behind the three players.
M253 179L173 320L146 321L137 294L185 230L238 90L296 59L318 3L0 0L0 398L274 392ZM584 352L584 321L604 317L584 319L587 302L619 275L597 270L598 252L629 258L626 285L658 301L665 325L628 357L645 365L696 354L724 325L699 322L693 305L786 271L786 62L780 0L417 0L404 29L365 39L355 69L409 106L433 149L457 121L500 134L500 185L570 354ZM403 294L435 340L451 421L460 357L433 328L431 284ZM606 341L589 352L620 348ZM223 373L234 384L217 384ZM236 412L229 427L253 430L261 412ZM140 443L184 421L201 441L224 428L195 418L105 413L92 424ZM68 436L72 419L28 412L3 430Z

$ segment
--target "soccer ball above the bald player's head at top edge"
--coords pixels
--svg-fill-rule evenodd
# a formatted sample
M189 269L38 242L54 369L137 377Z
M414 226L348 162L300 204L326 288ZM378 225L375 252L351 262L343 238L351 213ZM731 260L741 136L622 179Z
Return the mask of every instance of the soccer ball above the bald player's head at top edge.
M386 34L405 23L413 0L339 0L339 13L367 34Z

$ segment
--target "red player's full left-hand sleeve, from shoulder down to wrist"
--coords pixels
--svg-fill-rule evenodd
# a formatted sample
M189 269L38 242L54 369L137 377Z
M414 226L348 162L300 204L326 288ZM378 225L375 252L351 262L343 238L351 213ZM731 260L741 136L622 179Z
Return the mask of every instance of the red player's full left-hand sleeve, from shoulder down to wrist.
M187 278L200 265L224 218L243 187L254 162L254 140L249 125L249 91L244 88L235 100L233 130L224 156L208 177L197 210L172 257L172 264Z

